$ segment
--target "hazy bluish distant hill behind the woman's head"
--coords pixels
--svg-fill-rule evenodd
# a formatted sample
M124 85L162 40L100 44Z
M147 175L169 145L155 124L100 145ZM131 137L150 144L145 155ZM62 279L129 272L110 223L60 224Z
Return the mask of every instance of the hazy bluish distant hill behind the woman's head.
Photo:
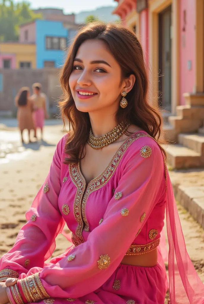
M119 16L112 15L114 8L115 8L114 6L104 6L104 7L99 7L98 9L95 9L93 11L80 12L75 15L75 22L84 23L89 15L94 15L99 20L105 22L117 21L119 20Z

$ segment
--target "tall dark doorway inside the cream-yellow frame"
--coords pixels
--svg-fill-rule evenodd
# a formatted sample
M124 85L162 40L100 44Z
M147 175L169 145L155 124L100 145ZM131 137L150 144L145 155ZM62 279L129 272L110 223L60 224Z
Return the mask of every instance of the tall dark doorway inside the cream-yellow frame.
M171 112L172 6L159 14L159 105Z

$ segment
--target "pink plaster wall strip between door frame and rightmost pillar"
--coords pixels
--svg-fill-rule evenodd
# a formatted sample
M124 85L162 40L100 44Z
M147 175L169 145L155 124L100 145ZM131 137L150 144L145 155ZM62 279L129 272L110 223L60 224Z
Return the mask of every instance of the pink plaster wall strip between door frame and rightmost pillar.
M184 21L184 11L186 22ZM196 64L196 0L180 0L180 105L185 105L183 93L193 92ZM191 60L191 70L188 70Z

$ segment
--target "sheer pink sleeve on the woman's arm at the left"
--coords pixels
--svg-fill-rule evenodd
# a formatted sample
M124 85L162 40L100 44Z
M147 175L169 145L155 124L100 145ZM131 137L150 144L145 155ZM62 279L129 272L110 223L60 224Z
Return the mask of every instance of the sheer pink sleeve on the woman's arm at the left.
M44 185L26 212L27 223L20 230L15 245L0 260L1 282L9 277L18 278L34 266L40 271L55 249L55 238L64 225L58 210L63 145L64 137L56 147Z

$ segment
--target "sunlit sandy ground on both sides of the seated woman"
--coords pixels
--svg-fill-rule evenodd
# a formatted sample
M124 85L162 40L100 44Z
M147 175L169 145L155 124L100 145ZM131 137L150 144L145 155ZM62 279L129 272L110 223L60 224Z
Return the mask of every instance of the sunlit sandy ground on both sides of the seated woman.
M20 147L18 131L14 129L11 132ZM7 135L4 133L2 136ZM19 229L26 223L25 212L48 174L56 143L62 136L62 126L46 126L45 141L24 145L15 153L0 157L0 256L13 246ZM204 184L204 171L172 171L170 175L172 180L184 185ZM204 282L204 230L179 205L178 210L187 250ZM69 242L62 235L57 237L56 244L53 256L69 247Z

